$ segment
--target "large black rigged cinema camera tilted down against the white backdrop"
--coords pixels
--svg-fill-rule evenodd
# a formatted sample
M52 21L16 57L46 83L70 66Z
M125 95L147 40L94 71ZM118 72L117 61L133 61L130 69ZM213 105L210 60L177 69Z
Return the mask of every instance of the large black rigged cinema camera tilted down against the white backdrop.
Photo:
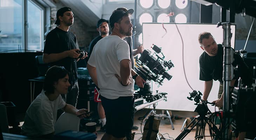
M160 86L162 85L164 78L170 80L171 77L173 77L169 75L167 71L174 67L174 65L171 60L164 60L165 56L161 52L162 48L159 48L154 44L151 46L151 48L155 51L153 55L151 55L150 50L145 49L135 66L139 69L137 71L138 75L140 75L144 80L153 80ZM162 54L162 57L157 55L159 53ZM157 58L155 58L154 55Z

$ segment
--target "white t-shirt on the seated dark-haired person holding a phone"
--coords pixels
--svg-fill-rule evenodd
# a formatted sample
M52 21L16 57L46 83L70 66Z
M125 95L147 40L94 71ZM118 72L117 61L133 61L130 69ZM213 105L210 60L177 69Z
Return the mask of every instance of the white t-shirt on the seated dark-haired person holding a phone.
M42 90L26 111L21 133L34 137L53 133L57 110L65 105L61 95L54 101L50 101Z

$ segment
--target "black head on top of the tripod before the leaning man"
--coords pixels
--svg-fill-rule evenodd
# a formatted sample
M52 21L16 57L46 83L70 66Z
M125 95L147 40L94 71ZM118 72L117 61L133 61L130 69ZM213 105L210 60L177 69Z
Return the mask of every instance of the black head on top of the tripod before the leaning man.
M190 94L190 97L187 97L187 98L189 100L193 100L194 98L194 101L196 102L194 105L197 105L194 112L197 112L202 118L204 118L208 112L211 113L207 104L213 104L213 103L209 103L207 101L202 100L201 96L203 94L200 91L197 92L196 90L194 90L193 92L189 92L189 94Z

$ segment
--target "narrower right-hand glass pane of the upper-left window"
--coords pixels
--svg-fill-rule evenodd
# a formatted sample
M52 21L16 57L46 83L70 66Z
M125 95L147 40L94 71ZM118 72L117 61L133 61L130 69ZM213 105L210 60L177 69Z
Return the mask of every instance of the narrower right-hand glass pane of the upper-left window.
M42 50L43 10L28 0L28 50Z

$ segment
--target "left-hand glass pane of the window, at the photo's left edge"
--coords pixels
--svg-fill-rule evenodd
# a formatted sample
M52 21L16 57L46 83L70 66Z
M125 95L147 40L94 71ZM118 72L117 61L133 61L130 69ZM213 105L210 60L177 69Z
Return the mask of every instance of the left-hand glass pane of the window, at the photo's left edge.
M22 0L0 0L0 51L23 49Z

